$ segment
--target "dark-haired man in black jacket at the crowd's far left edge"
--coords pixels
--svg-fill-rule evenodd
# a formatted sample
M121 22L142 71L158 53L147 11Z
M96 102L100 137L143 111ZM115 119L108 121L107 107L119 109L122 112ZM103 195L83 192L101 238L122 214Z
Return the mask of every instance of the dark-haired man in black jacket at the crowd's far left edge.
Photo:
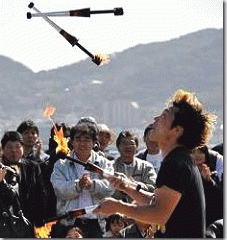
M15 171L7 171L5 181L19 195L24 216L32 225L42 225L47 209L46 193L37 164L23 158L23 138L19 132L8 131L2 139L2 163Z

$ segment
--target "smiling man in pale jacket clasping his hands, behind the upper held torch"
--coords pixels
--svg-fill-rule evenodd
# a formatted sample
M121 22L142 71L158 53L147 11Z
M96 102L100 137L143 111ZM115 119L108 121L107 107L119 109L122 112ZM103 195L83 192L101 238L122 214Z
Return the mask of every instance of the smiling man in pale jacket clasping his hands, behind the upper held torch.
M71 128L70 138L73 146L71 157L81 162L93 163L113 173L112 162L93 151L97 141L97 125L92 122L79 122ZM84 166L67 159L58 160L51 175L51 183L57 197L57 214L62 215L77 208L96 205L104 197L113 193L108 180L100 174L88 172ZM69 217L62 220L82 229L84 237L102 237L102 223L99 216L87 214L81 218Z

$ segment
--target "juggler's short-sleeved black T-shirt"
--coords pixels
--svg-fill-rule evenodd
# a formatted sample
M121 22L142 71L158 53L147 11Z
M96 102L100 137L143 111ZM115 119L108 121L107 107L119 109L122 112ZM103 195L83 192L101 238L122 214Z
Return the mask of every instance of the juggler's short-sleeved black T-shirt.
M189 151L177 147L162 161L156 186L167 186L182 196L166 224L164 238L205 237L205 198L198 168L193 165Z

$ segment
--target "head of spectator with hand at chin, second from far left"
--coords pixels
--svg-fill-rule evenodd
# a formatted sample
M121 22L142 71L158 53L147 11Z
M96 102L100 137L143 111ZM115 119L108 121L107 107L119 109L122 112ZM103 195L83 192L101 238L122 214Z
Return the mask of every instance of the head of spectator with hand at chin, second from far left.
M23 121L18 126L17 131L23 137L25 153L31 151L33 147L40 141L39 129L30 119Z

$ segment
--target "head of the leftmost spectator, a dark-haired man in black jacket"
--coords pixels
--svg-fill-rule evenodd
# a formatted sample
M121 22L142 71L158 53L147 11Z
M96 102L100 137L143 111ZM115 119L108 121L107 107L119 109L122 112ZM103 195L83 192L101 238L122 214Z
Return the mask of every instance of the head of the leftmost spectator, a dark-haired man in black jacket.
M12 163L17 163L23 156L23 137L19 132L5 132L1 139L2 157Z

